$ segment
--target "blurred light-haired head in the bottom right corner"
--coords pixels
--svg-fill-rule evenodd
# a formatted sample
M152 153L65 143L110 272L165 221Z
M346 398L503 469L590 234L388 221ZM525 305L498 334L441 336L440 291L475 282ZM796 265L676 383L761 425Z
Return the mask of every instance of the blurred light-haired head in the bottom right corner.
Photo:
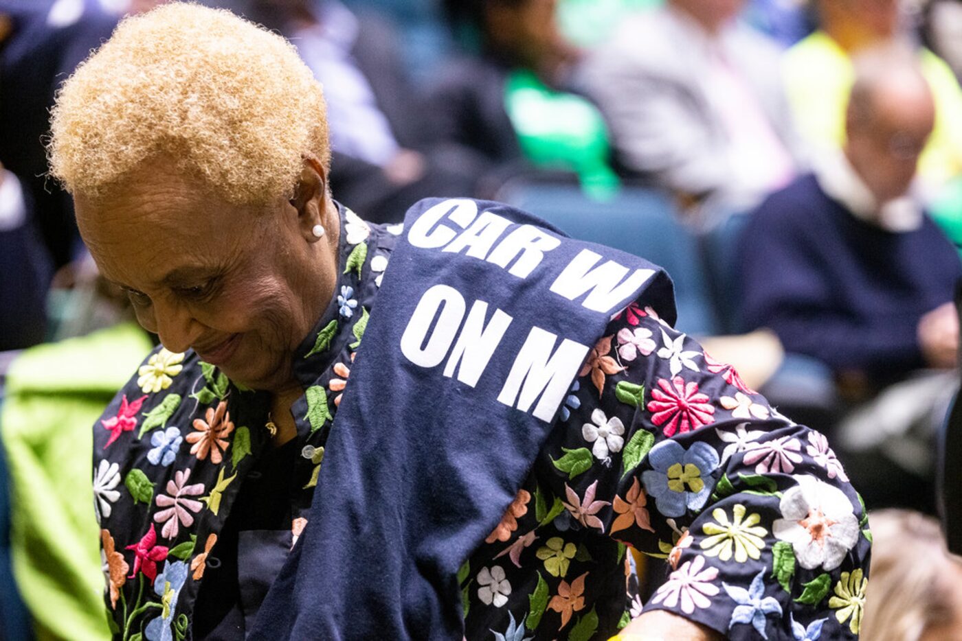
M870 525L862 641L962 638L962 558L949 554L938 521L885 509L870 514Z

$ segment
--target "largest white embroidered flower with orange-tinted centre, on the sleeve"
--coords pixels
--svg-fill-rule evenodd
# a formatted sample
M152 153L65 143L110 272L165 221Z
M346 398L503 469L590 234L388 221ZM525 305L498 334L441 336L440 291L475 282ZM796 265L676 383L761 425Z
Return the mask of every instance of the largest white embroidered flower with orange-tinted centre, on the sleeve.
M801 567L830 572L858 542L858 519L842 490L815 477L795 479L778 504L784 518L775 520L772 533L792 544Z

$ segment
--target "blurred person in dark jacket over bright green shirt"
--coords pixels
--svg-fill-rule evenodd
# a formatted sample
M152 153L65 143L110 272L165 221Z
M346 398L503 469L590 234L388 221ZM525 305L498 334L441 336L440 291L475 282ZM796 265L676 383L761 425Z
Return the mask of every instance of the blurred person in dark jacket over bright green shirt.
M534 167L574 171L589 193L618 185L604 121L565 90L580 52L562 36L557 0L448 0L455 32L477 53L449 62L433 87L435 142L472 154L482 191ZM486 194L487 195L487 194Z

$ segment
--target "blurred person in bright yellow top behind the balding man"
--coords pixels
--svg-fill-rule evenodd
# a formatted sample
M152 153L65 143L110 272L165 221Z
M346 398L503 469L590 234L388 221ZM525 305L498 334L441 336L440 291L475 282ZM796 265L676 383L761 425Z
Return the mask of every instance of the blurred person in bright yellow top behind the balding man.
M899 12L899 0L820 0L821 30L799 42L785 58L786 90L799 131L814 153L845 140L845 113L858 51L901 43L916 46ZM949 66L925 48L918 59L935 100L935 127L920 160L929 190L962 173L962 90Z

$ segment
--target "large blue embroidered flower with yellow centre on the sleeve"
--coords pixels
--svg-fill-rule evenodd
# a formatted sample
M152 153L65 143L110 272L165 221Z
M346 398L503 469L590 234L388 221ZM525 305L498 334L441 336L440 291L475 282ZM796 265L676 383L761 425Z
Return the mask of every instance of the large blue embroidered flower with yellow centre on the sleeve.
M642 473L648 496L665 516L684 516L686 509L700 509L712 493L711 474L719 454L707 443L693 443L686 450L675 441L662 441L651 448L652 469Z

